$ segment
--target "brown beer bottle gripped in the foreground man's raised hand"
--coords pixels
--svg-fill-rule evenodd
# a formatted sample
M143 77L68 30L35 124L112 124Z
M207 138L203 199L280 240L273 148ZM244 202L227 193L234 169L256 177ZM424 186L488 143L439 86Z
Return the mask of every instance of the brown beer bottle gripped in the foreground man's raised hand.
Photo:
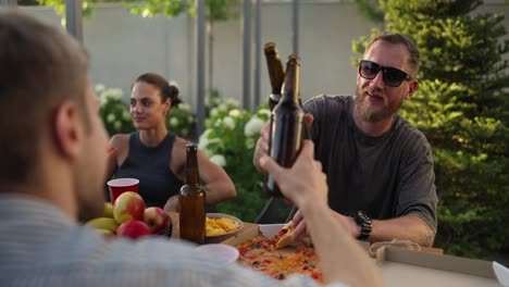
M282 166L290 167L302 148L302 132L305 112L299 104L300 63L295 54L288 57L285 83L280 103L271 113L271 142L269 154ZM265 192L273 197L282 197L274 178L268 175Z

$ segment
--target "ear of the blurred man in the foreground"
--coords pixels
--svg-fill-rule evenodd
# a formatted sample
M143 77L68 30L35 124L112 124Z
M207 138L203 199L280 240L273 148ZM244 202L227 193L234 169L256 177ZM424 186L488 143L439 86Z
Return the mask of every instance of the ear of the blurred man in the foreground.
M83 145L84 127L76 105L70 101L59 104L51 126L58 152L65 158L77 158Z

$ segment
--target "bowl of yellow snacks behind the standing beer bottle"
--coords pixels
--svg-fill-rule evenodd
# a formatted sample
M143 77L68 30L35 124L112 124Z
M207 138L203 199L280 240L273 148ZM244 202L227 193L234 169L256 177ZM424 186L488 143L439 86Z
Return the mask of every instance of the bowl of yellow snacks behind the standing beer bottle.
M206 217L206 241L221 242L238 233L244 226L239 219L224 213L207 213Z

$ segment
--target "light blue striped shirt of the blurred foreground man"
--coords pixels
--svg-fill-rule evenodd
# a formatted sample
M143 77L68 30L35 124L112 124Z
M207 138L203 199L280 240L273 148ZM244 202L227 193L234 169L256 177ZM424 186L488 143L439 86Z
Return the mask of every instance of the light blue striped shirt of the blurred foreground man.
M76 225L49 202L1 194L0 285L316 286L316 283L303 275L276 280L237 264L224 264L182 241L108 239L87 226Z

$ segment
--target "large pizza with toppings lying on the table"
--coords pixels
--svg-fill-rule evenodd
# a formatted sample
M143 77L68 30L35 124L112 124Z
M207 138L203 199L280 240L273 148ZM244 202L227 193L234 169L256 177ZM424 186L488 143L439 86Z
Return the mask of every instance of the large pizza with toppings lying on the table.
M289 229L282 228L272 238L258 236L237 246L244 266L260 271L273 278L284 279L291 274L305 274L322 282L322 272L310 240L300 240L295 248L280 249L277 242Z

